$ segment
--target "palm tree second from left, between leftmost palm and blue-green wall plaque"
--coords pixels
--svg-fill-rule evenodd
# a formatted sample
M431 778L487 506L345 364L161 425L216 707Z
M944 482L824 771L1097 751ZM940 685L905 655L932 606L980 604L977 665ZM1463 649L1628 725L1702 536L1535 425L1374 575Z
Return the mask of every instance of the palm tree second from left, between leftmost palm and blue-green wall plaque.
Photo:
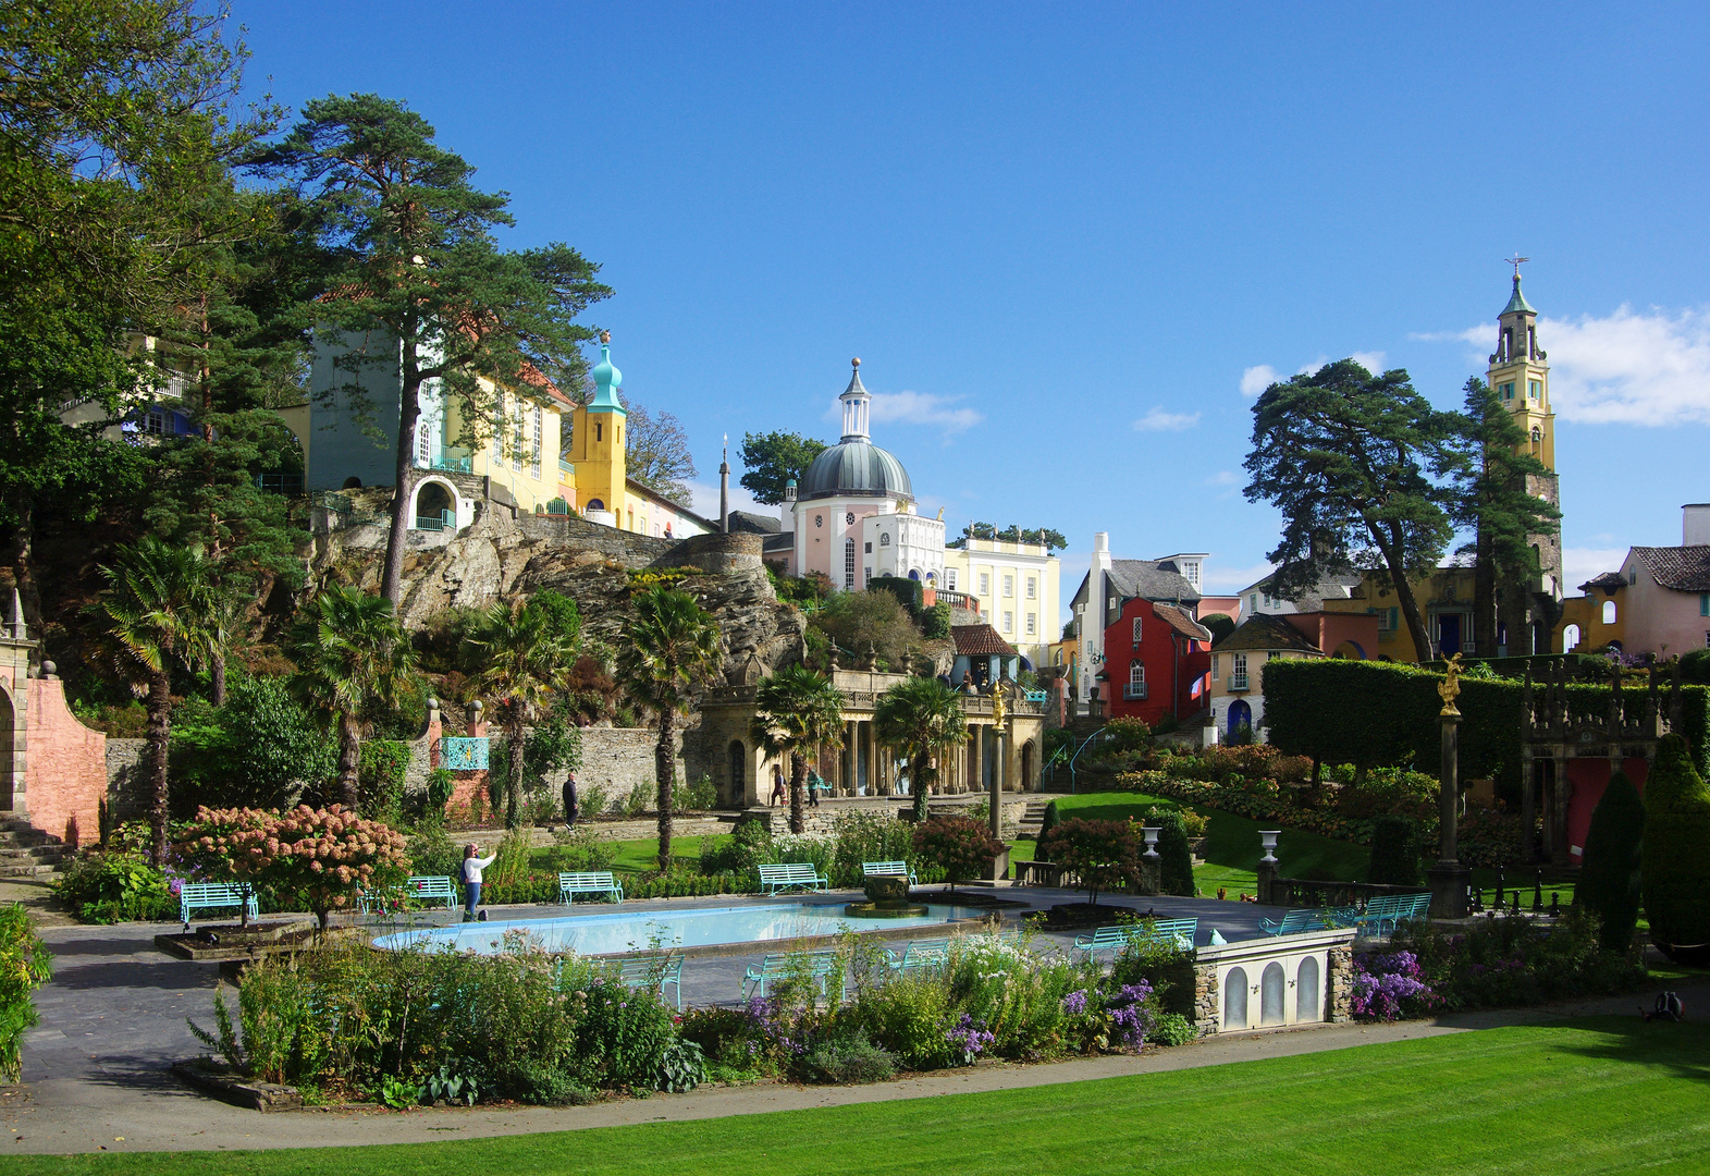
M397 705L416 654L392 601L361 589L323 587L298 611L289 638L298 673L292 692L327 726L339 728L339 787L356 811L363 769L363 722L376 707Z

